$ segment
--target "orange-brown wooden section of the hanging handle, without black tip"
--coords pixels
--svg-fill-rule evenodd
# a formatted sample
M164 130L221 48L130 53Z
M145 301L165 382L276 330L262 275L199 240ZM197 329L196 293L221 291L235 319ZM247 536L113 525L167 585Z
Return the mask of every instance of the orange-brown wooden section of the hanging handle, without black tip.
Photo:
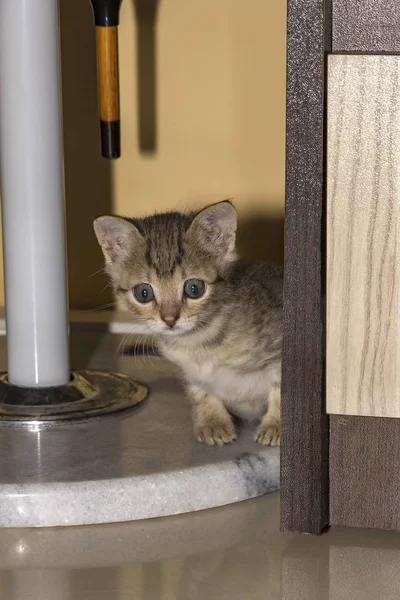
M97 79L102 121L119 121L118 27L96 27Z

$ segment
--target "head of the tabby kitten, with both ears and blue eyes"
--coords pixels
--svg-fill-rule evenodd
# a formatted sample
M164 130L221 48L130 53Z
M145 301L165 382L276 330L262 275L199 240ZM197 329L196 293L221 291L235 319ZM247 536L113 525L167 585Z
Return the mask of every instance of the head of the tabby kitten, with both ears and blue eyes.
M95 220L106 271L138 332L182 335L207 322L236 259L236 225L228 201L198 214Z

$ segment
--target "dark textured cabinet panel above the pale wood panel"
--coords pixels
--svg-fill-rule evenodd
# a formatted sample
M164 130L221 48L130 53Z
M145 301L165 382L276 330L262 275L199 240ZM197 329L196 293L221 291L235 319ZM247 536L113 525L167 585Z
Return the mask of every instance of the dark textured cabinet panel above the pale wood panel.
M332 0L333 52L400 52L399 0Z

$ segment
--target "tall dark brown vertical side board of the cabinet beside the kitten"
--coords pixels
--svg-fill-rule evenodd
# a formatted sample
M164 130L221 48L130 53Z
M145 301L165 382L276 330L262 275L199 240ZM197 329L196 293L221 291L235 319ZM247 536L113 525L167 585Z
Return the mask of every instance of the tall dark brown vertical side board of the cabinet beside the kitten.
M324 2L289 0L281 529L328 523L324 413Z

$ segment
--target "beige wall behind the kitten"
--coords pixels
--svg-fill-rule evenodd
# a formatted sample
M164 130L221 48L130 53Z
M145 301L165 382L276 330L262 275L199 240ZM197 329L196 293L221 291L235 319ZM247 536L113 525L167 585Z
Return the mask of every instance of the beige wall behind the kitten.
M155 23L156 147L139 148L137 95L153 100L137 32L150 44L143 8L124 0L120 25L122 157L99 157L94 32L89 1L61 0L70 297L109 301L92 219L142 215L234 198L242 253L281 260L284 207L284 0L160 0ZM139 15L139 23L137 19ZM147 56L147 59L146 59ZM144 62L149 59L149 48ZM146 66L146 65L145 65ZM147 92L146 92L147 90ZM142 133L152 119L142 119ZM1 286L0 294L3 288ZM0 296L1 301L1 296Z

